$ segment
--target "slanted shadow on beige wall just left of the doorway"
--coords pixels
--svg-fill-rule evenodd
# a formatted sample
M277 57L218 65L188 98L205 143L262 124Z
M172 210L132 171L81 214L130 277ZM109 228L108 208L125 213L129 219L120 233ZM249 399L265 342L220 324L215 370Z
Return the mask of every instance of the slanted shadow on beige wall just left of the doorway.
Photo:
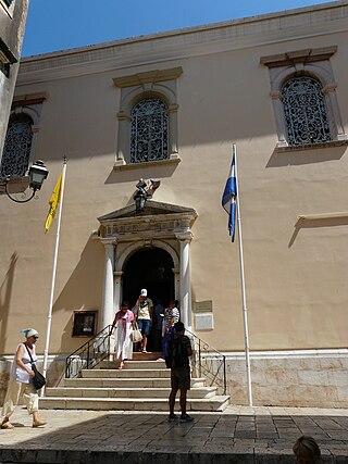
M87 341L86 338L72 338L73 313L77 310L99 310L100 314L103 266L104 249L99 240L90 237L79 262L53 305L53 316L60 330L65 324L61 334L61 353L71 353ZM70 315L67 323L66 313Z

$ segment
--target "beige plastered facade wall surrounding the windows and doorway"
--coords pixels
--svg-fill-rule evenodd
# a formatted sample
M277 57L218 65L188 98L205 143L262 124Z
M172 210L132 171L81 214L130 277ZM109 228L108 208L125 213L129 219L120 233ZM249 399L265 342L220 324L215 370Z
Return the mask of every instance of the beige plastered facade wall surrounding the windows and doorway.
M36 158L50 175L37 201L24 206L0 198L1 353L13 352L27 326L41 334L39 352L45 346L57 223L45 236L44 222L64 154L50 352L70 353L85 341L71 337L73 311L100 312L104 249L91 234L97 217L133 202L140 177L161 179L153 200L198 212L190 246L192 300L211 300L214 316L214 330L199 336L221 351L243 350L238 246L229 242L220 204L232 141L238 150L251 350L346 347L347 148L276 152L269 72L260 64L263 55L337 46L331 61L348 130L345 17L330 22L330 14L312 14L306 27L303 13L298 28L284 16L282 30L273 30L270 17L245 28L207 29L213 34L209 42L206 32L192 30L23 63L16 95L48 93ZM183 68L181 163L113 170L121 92L113 78L176 66ZM298 223L300 214L337 212L347 215Z

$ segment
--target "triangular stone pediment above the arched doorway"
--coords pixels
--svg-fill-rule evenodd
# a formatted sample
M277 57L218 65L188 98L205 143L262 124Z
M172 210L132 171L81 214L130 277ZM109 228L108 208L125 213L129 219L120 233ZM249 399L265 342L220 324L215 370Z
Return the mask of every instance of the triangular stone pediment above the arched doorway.
M98 217L99 234L101 238L117 240L174 238L189 233L197 215L192 208L149 200L142 211L130 204Z

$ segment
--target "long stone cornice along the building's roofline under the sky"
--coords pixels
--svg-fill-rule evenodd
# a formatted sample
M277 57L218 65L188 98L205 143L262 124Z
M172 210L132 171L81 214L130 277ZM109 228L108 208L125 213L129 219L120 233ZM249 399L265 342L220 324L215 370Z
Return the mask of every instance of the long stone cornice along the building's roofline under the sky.
M18 85L347 30L348 1L124 39L22 60ZM121 77L121 76L120 76Z

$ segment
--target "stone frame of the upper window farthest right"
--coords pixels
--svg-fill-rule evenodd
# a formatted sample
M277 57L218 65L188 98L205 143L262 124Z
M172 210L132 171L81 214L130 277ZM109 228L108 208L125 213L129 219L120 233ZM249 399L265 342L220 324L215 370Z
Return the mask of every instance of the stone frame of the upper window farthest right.
M271 92L278 150L303 150L321 147L346 145L348 136L345 133L338 100L336 95L337 84L331 65L331 57L335 54L337 47L325 47L320 49L306 49L286 52L276 55L262 57L260 63L269 67ZM282 103L282 87L289 79L297 76L309 76L316 79L325 98L327 120L331 128L332 140L319 143L306 143L290 146L287 141L287 127Z

